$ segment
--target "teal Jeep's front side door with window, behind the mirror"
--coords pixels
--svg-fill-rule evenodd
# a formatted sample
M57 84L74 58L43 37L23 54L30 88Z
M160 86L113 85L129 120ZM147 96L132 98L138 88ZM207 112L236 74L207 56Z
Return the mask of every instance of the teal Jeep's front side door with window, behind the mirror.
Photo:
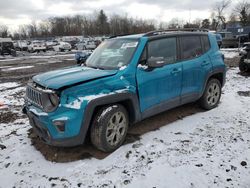
M182 65L177 63L177 38L150 41L142 58L145 58L146 62L150 57L163 58L167 64L154 69L138 65L136 78L141 112L159 104L180 103Z

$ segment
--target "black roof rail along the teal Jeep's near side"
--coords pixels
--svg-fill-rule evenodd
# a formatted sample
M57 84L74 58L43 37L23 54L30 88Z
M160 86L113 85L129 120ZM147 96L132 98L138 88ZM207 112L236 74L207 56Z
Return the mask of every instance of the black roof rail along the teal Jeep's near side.
M188 31L188 32L209 32L208 29L201 29L201 28L181 28L181 29L166 29L166 30L155 30L145 33L144 37L155 36L155 35L162 35L167 34L169 32L174 31Z

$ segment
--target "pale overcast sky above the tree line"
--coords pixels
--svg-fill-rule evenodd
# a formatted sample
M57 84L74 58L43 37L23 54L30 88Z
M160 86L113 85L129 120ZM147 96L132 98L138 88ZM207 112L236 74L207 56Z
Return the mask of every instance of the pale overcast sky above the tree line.
M0 0L0 25L12 30L20 24L51 16L88 14L103 9L110 14L168 22L204 19L216 0Z

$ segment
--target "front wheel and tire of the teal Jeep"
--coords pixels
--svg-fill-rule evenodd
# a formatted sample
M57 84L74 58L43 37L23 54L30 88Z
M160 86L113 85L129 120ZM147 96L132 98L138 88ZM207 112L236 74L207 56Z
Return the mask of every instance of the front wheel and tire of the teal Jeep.
M90 132L91 142L99 150L112 152L124 142L128 125L128 113L122 105L105 106L94 117Z

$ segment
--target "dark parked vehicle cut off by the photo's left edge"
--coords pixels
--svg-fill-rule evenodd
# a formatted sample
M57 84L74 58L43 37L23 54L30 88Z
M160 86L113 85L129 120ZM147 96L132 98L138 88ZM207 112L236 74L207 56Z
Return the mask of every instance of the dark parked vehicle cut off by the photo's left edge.
M16 56L16 51L11 38L0 38L0 55Z

